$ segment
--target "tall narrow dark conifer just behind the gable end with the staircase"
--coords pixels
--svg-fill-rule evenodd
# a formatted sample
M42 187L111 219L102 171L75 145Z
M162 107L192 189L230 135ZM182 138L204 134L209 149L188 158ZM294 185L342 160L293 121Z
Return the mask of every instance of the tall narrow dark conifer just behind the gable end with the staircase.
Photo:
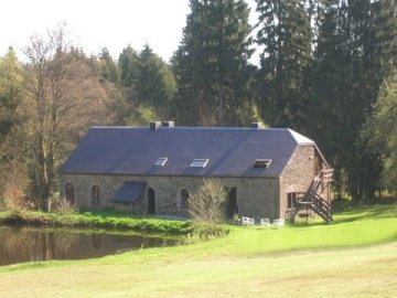
M319 33L310 77L313 95L308 128L308 134L318 141L335 168L335 190L339 198L342 196L342 173L345 172L343 155L352 146L352 124L347 114L354 111L353 107L345 106L353 103L345 98L350 57L345 49L348 44L345 29L347 22L340 2L325 0L319 4Z

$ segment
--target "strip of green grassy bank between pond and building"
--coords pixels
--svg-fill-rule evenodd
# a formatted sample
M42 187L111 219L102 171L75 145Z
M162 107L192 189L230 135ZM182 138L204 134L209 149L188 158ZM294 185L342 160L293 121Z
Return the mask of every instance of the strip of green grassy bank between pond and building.
M0 212L0 224L117 228L172 235L186 235L192 232L192 226L187 221L135 217L110 211L90 211L77 214L4 211Z

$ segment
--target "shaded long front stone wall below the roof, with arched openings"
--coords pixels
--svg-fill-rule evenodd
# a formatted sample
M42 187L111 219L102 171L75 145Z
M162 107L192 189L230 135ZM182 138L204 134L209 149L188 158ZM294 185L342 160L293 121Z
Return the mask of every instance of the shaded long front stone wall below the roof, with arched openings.
M279 180L264 178L219 178L227 188L237 188L237 204L239 214L250 217L280 217ZM110 201L118 188L125 181L142 181L148 185L138 202L120 204ZM186 215L186 210L181 207L181 191L185 189L193 193L203 182L197 177L158 177L158 175L89 175L63 174L61 178L61 195L65 196L65 185L72 183L75 203L82 207L104 209L114 207L137 214L147 213L148 189L155 191L155 213L171 215ZM100 204L92 204L92 189L100 188Z

